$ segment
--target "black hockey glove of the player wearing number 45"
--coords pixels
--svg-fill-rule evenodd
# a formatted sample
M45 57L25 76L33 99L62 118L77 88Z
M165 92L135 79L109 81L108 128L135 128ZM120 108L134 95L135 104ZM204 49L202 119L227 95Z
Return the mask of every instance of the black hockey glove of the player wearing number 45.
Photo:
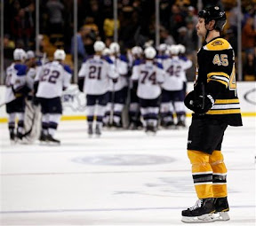
M185 97L185 105L195 113L207 113L214 105L214 99L210 94L195 96L195 91L191 91Z

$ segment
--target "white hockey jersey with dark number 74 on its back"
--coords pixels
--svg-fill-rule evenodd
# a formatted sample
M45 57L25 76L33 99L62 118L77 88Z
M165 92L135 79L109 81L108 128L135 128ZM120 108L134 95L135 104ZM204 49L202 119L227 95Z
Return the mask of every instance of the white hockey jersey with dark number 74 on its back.
M151 60L138 60L132 68L132 81L138 81L138 97L155 99L160 96L164 82L163 66Z

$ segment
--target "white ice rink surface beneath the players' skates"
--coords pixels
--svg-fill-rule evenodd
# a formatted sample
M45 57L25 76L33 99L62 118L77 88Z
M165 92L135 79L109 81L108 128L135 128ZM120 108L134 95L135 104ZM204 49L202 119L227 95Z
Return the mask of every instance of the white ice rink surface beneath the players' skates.
M226 131L231 220L211 225L255 225L255 124ZM85 121L61 121L60 146L11 145L0 128L0 225L184 225L181 210L196 203L188 128L88 138Z

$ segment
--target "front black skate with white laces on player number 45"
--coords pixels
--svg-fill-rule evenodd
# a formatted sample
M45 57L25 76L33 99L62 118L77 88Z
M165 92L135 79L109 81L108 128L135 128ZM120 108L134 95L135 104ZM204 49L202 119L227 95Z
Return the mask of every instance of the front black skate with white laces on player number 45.
M215 222L213 198L199 199L194 207L182 211L181 222Z

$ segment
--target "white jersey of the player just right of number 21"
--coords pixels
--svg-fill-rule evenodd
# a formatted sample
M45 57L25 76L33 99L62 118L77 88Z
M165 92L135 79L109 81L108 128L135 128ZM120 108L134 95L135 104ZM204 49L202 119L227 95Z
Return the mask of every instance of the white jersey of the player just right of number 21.
M110 81L109 91L119 91L122 90L125 86L128 86L128 61L123 55L120 55L117 58L115 56L111 56L110 58L114 62L114 65L116 67L118 80L115 85L112 81Z

